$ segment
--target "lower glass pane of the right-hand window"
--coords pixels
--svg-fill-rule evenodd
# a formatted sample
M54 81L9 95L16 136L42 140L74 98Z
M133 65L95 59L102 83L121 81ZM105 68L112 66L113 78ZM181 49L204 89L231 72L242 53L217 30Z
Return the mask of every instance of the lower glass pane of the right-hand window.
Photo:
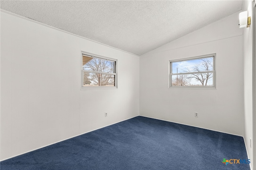
M213 73L172 75L172 86L213 86Z

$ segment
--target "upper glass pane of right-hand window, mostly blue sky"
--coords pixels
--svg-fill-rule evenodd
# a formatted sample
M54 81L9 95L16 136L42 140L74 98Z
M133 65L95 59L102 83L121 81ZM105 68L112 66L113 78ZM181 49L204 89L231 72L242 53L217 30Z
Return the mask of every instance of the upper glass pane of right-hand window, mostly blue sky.
M172 62L172 73L213 71L214 57Z

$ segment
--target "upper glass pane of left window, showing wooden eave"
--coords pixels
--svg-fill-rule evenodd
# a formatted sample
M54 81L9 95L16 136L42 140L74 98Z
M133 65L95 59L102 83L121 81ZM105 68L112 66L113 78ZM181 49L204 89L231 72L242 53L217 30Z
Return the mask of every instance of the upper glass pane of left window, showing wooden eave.
M115 61L83 56L83 70L114 73Z

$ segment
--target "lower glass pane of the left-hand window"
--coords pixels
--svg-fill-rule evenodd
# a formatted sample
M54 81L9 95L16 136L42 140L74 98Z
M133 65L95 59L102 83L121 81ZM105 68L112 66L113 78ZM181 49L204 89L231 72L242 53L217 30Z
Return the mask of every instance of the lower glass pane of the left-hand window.
M88 72L83 73L83 86L115 86L115 75Z

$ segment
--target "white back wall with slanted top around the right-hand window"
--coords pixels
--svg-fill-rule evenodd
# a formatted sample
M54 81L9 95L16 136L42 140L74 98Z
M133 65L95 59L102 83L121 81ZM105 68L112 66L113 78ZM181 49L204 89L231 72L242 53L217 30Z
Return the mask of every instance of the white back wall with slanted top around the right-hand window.
M140 57L140 115L244 135L243 36L238 14ZM217 89L168 89L169 60L211 53L216 53Z

